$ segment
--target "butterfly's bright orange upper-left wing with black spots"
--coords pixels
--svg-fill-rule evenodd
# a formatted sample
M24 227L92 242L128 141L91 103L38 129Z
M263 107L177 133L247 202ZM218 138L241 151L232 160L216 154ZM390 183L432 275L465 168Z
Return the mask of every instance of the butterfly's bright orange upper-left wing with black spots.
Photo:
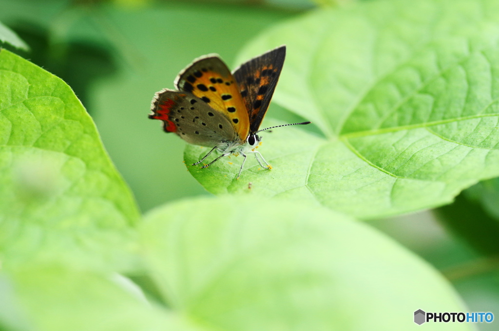
M217 55L196 59L179 74L175 85L227 116L240 140L246 140L250 121L245 103L231 71Z

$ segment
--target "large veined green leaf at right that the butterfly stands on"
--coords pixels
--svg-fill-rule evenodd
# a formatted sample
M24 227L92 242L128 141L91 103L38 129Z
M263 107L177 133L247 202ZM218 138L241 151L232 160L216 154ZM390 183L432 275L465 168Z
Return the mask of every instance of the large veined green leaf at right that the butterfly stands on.
M219 164L194 176L212 192L264 176L253 191L361 218L450 203L499 175L498 22L495 0L379 0L275 26L238 63L286 44L273 100L323 137L275 129L259 150L271 172L252 163L236 180L238 166Z

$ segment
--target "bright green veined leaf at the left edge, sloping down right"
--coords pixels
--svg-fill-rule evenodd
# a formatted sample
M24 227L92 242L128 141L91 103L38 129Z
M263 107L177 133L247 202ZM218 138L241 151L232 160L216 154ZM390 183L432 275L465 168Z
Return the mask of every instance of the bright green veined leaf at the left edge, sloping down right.
M61 79L0 51L0 260L127 267L138 210Z

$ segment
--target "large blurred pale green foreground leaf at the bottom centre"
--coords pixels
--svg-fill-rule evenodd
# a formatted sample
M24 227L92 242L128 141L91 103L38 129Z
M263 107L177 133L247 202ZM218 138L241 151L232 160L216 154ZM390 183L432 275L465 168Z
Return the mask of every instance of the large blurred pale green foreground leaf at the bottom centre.
M145 217L148 266L174 311L240 331L418 330L418 309L466 311L440 274L365 224L252 197L188 200Z

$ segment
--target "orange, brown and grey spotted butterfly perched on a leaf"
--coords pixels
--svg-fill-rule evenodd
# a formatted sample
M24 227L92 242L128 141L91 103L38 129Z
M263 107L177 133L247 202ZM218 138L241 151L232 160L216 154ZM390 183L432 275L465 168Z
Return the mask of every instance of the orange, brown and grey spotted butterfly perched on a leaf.
M217 54L197 58L175 79L177 90L156 92L151 103L150 119L163 121L163 129L176 133L189 144L211 147L199 165L215 150L221 153L206 168L223 157L248 154L265 169L271 166L256 151L261 145L258 130L279 79L286 46L270 50L242 64L233 73ZM261 160L260 160L261 159ZM262 163L263 162L263 163Z

